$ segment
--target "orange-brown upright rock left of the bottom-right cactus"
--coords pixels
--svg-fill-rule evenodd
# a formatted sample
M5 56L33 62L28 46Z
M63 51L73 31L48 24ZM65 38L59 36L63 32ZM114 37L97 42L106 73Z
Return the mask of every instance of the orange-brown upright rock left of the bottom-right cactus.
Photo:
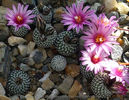
M69 97L74 98L75 96L77 96L81 89L82 85L77 80L75 80L72 88L69 90Z

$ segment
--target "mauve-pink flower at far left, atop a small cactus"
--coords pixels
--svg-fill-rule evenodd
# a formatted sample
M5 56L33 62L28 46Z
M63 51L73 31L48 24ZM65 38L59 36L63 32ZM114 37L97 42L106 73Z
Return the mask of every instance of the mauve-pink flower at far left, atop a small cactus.
M32 11L27 9L28 5L24 7L19 3L17 9L13 5L13 10L8 9L6 13L6 19L9 21L7 25L14 26L16 31L22 26L30 29L28 24L33 22L31 18L34 18L35 15L31 15Z

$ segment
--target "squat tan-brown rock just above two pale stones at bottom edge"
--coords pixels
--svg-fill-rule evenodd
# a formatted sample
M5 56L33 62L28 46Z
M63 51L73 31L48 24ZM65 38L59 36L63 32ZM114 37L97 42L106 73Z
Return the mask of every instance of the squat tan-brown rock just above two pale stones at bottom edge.
M54 87L54 83L49 78L47 78L46 80L44 80L43 83L42 83L42 88L44 90L50 90L53 87Z

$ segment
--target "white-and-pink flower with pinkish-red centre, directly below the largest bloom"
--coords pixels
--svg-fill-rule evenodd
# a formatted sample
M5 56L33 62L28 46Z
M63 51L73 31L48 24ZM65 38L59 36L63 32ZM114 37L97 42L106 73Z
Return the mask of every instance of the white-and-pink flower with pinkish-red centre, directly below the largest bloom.
M92 52L90 48L88 48L87 51L81 51L81 53L82 57L80 60L82 61L82 65L87 66L87 71L94 71L95 74L98 72L103 72L105 62L107 60L107 54L103 52L98 55L95 52Z

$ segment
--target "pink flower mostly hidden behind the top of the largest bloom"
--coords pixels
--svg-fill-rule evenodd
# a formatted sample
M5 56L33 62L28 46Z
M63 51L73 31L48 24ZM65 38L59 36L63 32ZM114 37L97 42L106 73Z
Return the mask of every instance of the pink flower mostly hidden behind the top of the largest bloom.
M110 19L108 19L106 15L102 13L99 15L99 17L94 15L94 20L92 20L92 22L94 22L97 26L102 24L104 26L110 26L115 29L115 27L119 26L118 20L115 20L115 18L116 16L112 16Z

